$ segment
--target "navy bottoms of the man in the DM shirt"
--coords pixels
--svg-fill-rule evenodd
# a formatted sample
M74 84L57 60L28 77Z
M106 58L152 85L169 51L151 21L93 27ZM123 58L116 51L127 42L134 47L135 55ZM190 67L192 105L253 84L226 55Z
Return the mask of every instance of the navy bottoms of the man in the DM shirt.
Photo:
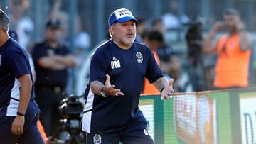
M144 123L132 123L113 133L86 133L87 144L154 144Z

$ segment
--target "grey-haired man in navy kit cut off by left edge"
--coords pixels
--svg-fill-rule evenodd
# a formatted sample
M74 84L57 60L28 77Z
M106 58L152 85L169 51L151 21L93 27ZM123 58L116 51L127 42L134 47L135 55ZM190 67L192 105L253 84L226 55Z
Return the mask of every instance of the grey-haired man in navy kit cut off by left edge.
M43 143L28 55L8 35L9 18L0 9L0 143Z

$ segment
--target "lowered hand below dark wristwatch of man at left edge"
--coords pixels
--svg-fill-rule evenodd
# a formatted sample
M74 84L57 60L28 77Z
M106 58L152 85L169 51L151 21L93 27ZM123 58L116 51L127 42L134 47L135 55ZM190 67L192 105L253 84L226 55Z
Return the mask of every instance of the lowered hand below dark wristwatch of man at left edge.
M11 133L13 133L14 135L21 135L23 133L24 123L24 116L16 116L14 122L11 125Z

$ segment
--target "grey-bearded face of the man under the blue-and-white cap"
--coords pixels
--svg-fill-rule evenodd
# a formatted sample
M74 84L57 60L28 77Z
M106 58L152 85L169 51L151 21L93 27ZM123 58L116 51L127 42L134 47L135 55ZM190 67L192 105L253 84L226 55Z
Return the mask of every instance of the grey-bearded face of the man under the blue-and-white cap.
M134 21L124 23L114 23L110 26L110 33L113 39L120 45L132 45L136 37L136 26Z

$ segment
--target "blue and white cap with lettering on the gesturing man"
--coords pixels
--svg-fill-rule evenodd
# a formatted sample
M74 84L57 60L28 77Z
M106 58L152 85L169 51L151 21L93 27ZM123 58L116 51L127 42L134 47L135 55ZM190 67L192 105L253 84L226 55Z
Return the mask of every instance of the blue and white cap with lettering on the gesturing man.
M132 12L126 8L121 8L115 10L111 13L109 17L109 26L112 25L114 22L124 23L125 21L134 20L136 23L138 22L134 16L132 16Z

